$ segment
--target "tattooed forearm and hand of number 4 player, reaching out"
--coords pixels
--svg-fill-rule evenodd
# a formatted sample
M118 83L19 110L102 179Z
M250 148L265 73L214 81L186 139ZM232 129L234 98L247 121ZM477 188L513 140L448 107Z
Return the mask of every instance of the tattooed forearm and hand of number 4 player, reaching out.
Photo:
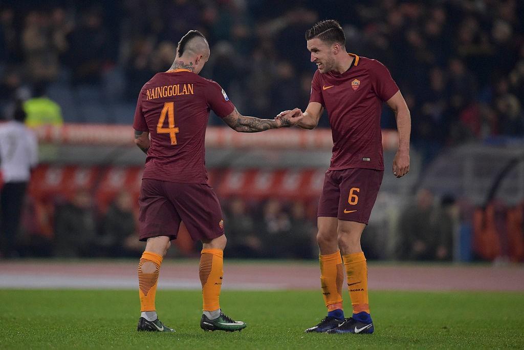
M223 118L224 122L231 129L238 132L260 132L269 129L287 128L295 125L302 120L302 116L282 116L277 120L260 119L254 116L244 116L238 113L237 109Z

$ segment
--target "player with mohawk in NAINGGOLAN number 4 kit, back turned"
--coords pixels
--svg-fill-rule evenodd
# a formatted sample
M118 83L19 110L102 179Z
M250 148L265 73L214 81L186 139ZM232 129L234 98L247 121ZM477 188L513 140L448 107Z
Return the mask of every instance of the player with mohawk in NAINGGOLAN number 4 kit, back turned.
M204 138L213 110L238 132L260 132L295 125L301 116L259 119L238 113L219 84L199 76L208 61L208 40L190 30L178 43L173 65L141 89L133 128L135 144L146 153L140 187L139 239L147 241L138 265L138 331L174 332L158 320L155 307L160 265L183 221L193 240L201 240L199 276L205 331L240 331L246 327L220 308L224 220L219 200L208 184Z

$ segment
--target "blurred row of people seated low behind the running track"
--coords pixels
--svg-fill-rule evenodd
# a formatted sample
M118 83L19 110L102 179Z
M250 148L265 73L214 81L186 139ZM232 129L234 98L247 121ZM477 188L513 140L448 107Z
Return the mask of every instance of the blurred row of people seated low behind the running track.
M249 200L233 196L222 198L221 203L228 257L318 256L316 200ZM395 212L391 220L396 223L394 227L370 222L362 239L366 256L372 260L451 261L459 213L453 197L437 198L421 189L412 205ZM125 191L116 194L107 208L83 189L70 200L57 197L39 202L29 198L22 222L14 250L6 257L125 258L136 257L145 245L138 241L136 198ZM195 257L201 248L200 243L191 240L183 224L172 243L173 257Z

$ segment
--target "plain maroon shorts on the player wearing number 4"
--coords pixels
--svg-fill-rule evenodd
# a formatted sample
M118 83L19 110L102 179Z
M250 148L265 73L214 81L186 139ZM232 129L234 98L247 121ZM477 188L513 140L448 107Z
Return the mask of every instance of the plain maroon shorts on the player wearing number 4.
M176 239L180 221L193 240L213 239L224 234L219 199L208 184L143 179L140 187L139 239L168 236Z

